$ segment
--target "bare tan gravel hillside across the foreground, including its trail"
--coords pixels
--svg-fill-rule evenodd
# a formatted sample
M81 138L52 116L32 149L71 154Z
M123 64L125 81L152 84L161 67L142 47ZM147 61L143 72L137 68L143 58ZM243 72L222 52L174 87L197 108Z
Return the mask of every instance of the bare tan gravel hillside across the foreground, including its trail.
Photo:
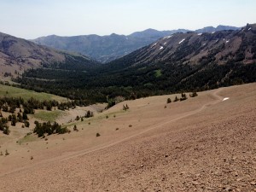
M119 103L47 141L4 143L0 190L256 191L256 84L168 97Z

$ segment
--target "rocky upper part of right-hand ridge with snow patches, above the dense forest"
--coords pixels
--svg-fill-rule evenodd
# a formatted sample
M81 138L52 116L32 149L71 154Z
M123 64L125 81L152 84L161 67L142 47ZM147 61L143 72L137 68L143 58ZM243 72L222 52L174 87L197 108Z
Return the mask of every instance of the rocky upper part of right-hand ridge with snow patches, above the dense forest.
M252 63L256 59L256 25L247 25L240 31L205 33L176 33L132 52L108 65L130 67L138 64L189 63L227 61ZM207 62L206 61L206 62Z

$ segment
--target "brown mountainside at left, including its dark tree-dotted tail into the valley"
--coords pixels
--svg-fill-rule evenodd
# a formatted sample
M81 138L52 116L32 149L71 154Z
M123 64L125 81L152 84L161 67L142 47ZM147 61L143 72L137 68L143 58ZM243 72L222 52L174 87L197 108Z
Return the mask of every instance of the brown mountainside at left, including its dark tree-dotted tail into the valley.
M61 52L0 32L0 76L23 73L32 67L60 67L61 63L72 66L79 63L84 67L96 64L83 55Z

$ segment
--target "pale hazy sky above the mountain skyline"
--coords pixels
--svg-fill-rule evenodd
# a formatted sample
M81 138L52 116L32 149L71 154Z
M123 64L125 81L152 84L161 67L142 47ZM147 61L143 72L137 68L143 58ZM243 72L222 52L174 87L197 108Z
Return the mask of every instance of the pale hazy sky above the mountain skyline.
M256 23L256 0L0 0L0 8L0 32L19 38Z

